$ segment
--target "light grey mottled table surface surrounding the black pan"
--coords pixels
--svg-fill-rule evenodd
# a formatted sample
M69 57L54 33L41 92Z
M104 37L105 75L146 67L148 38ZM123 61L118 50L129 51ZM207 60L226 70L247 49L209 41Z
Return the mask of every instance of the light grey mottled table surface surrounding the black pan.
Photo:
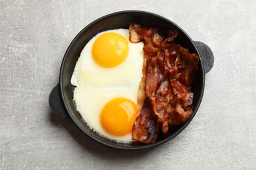
M48 103L75 35L120 10L169 18L215 57L192 122L150 150L102 146ZM243 0L1 1L0 169L255 168L255 16L256 1Z

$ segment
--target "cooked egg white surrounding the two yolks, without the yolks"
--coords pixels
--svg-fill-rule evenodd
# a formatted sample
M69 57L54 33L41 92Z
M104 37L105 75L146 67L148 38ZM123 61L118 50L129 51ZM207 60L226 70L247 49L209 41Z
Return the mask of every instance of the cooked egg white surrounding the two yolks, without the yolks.
M129 52L123 63L116 67L102 67L92 56L93 42L103 33L119 33L129 42ZM85 122L105 137L117 141L132 141L131 133L117 137L107 133L100 125L100 112L108 101L127 97L137 104L137 95L142 78L143 43L131 43L128 29L112 29L98 33L83 48L75 65L71 84L74 103Z

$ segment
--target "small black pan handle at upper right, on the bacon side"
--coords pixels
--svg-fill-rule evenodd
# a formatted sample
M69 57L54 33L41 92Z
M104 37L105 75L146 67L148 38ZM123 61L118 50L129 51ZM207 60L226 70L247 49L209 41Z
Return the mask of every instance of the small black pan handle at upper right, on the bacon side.
M209 48L209 46L207 46L207 44L204 44L203 42L194 41L194 44L196 45L196 48L198 48L198 52L201 56L202 63L203 63L203 69L206 74L211 70L211 68L213 68L213 63L214 63L213 52L211 51L211 48Z

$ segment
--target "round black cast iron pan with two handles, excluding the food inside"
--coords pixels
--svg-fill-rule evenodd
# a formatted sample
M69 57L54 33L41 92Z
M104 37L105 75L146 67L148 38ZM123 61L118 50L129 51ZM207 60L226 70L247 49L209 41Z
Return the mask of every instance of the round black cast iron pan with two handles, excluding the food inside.
M153 144L142 143L119 143L106 139L90 129L87 124L81 118L81 115L75 110L73 103L73 90L74 86L70 84L70 79L74 71L75 63L79 58L81 50L87 42L93 38L97 33L108 29L116 28L129 28L131 22L143 25L144 27L162 27L163 29L176 29L179 31L176 43L181 44L184 48L188 48L190 52L198 54L200 61L198 63L198 73L192 83L192 92L194 92L193 107L194 112L192 117L181 126L175 128L167 134L167 137L159 139ZM202 101L203 90L205 84L205 74L213 67L213 53L211 49L202 42L195 42L188 37L188 35L176 24L150 12L143 11L121 11L107 16L99 18L95 22L87 25L71 42L70 46L66 50L62 65L60 68L60 82L53 88L53 91L49 97L49 104L54 113L61 117L72 118L74 123L81 129L87 136L91 137L95 141L106 146L113 148L120 148L125 150L139 150L143 148L150 148L159 144L165 143L170 139L173 139L176 135L190 123L194 115L196 114L198 107ZM92 96L93 97L93 96Z

